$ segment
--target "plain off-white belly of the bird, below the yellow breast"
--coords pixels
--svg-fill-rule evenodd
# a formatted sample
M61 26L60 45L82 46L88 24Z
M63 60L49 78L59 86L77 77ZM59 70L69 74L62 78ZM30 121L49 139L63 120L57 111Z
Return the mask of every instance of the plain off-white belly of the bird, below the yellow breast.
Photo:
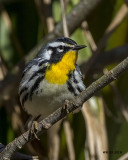
M63 107L65 100L74 98L66 84L49 84L46 80L43 80L39 88L42 88L42 90L38 92L38 95L34 94L32 101L28 100L24 108L33 116L41 114L41 119L47 117L56 109Z

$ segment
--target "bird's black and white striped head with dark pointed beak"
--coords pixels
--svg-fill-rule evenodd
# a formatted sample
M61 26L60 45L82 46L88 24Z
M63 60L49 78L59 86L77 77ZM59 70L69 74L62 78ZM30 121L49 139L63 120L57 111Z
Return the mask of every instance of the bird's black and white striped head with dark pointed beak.
M50 63L59 62L63 55L71 50L80 50L85 48L85 45L78 46L75 41L67 37L60 37L46 44L37 55Z

